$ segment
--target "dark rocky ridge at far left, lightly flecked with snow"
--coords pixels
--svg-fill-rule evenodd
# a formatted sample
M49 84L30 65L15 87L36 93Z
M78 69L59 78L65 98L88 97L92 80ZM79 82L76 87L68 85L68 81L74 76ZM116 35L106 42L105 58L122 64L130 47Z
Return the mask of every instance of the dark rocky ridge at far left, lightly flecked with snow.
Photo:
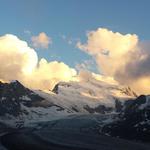
M17 116L21 113L21 105L36 106L43 98L25 88L20 82L0 82L0 116L10 114Z

